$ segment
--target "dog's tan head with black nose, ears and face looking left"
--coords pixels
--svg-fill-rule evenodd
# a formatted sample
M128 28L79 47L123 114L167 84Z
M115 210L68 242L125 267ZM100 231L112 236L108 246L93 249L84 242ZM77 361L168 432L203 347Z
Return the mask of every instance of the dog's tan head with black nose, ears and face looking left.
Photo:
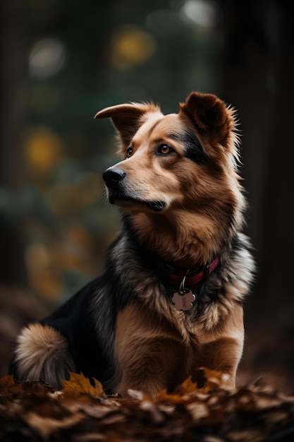
M225 234L243 208L234 114L215 95L200 92L192 92L178 114L164 115L148 103L98 112L96 118L111 118L123 156L103 175L110 203L131 216L164 215L178 224L185 218L210 237L223 226Z

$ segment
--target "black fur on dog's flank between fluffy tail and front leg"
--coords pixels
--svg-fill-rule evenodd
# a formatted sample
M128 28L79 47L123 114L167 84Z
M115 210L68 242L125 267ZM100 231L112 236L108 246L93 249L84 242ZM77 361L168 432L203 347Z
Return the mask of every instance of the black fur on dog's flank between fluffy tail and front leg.
M114 352L116 313L114 301L111 297L105 297L104 289L112 293L112 279L113 275L106 272L89 282L41 321L42 325L50 325L66 337L75 371L99 379L106 390L109 388L109 378L114 374L114 358L109 355ZM102 299L98 305L97 299Z

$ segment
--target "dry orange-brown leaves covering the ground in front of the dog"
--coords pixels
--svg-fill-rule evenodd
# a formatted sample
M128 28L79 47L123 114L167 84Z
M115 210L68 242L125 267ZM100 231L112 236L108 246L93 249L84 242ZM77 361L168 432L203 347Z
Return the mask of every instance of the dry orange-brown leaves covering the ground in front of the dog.
M172 394L107 396L99 381L71 374L63 390L44 381L0 378L1 441L294 440L294 398L262 383L226 390L219 374L187 379Z

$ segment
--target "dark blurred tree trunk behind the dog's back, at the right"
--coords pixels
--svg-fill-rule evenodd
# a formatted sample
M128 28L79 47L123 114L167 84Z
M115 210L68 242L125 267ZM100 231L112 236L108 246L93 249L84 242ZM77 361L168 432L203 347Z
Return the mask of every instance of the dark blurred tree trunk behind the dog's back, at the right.
M224 0L223 97L238 108L248 229L257 258L251 318L293 318L293 5Z

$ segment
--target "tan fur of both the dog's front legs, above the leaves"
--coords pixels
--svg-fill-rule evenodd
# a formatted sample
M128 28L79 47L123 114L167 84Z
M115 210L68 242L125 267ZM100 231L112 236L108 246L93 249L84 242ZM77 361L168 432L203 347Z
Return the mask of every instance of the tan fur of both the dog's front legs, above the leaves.
M184 339L167 319L133 304L118 315L116 335L120 393L130 386L149 395L171 391L188 376L197 380L202 366L227 374L227 387L234 388L243 351L243 309L238 306L210 332L199 325Z

